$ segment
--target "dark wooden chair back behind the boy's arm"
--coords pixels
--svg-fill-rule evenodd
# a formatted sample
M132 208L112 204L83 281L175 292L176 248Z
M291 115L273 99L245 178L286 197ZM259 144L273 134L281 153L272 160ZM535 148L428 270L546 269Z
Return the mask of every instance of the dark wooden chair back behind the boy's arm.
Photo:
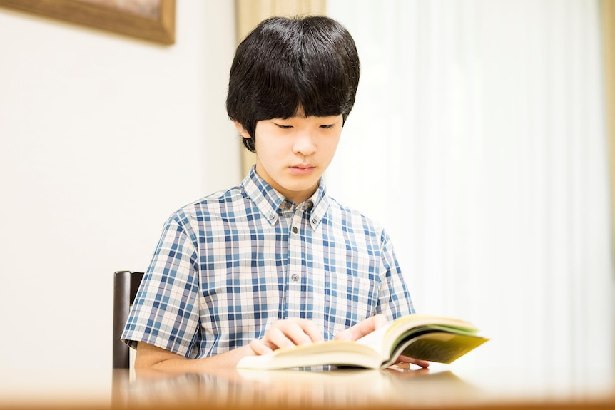
M130 367L130 347L120 340L143 272L121 270L113 275L113 369Z

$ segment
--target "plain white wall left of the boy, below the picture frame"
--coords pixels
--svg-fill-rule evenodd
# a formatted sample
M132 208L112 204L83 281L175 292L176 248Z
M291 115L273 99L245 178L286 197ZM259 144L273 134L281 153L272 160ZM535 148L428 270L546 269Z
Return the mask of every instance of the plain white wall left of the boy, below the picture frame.
M240 181L233 13L178 1L158 46L0 9L0 368L110 368L113 271Z

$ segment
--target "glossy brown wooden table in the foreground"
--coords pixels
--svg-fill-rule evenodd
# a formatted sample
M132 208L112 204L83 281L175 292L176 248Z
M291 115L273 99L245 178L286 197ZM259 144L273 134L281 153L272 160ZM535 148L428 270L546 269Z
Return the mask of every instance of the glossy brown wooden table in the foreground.
M611 372L0 371L0 409L615 409Z

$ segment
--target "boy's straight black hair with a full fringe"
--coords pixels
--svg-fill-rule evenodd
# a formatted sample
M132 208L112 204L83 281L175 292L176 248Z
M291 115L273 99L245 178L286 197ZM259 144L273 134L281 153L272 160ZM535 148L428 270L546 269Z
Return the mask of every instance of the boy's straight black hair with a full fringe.
M256 123L305 116L338 116L355 104L359 56L350 33L325 16L271 17L245 37L230 67L226 111L252 138Z

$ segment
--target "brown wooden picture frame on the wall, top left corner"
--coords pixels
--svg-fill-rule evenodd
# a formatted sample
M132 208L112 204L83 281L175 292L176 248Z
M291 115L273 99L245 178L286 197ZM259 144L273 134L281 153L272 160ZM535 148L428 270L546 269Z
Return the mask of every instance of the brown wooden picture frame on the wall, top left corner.
M132 2L134 4L134 1ZM0 6L170 45L175 43L176 0L141 0L148 13L113 0L0 0ZM144 9L144 8L143 8Z

